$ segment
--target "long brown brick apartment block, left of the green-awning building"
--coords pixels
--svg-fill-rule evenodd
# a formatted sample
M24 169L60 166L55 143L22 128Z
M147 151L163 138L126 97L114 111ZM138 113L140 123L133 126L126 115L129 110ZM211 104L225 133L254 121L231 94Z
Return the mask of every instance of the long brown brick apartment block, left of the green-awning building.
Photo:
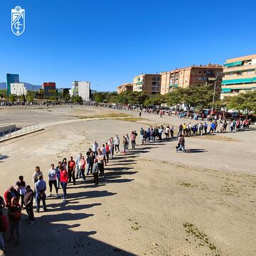
M223 72L218 64L192 65L187 68L176 68L161 73L161 94L164 95L176 88L213 85L216 75ZM221 77L220 77L221 78ZM221 79L217 80L216 90L220 92Z

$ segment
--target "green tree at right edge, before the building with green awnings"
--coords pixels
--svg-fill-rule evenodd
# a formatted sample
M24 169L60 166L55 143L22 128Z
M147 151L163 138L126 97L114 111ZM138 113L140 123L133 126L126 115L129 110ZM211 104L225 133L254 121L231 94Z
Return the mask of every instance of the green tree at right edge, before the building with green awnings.
M256 91L239 93L224 99L229 109L242 110L244 114L256 112Z

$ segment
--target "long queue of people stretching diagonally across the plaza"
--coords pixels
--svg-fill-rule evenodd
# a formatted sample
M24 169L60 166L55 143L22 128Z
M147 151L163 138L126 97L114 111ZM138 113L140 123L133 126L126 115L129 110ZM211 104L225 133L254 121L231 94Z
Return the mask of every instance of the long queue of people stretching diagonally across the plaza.
M206 122L180 124L177 131L178 145L176 146L176 151L186 152L185 137L217 132L218 126L220 126L220 132L226 132L228 126L230 127L230 132L233 132L235 129L237 131L249 129L249 122L246 119L229 122L225 119L215 119L209 125ZM16 242L18 243L21 240L21 210L26 209L29 225L33 225L35 221L33 203L36 203L36 213L39 213L41 210L41 202L43 204L43 211L47 210L46 198L53 196L53 187L56 198L59 198L59 190L62 189L62 203L65 206L69 183L73 183L73 186L75 186L78 178L85 182L90 175L93 176L95 185L99 183L99 178L101 178L101 181L104 181L105 166L107 166L110 159L113 159L117 153L127 154L127 151L136 149L138 137L142 145L155 141L161 142L162 139L176 139L174 137L174 126L166 125L164 127L161 125L147 129L141 128L139 133L134 130L131 134L124 134L121 138L116 135L102 145L95 141L85 155L79 153L75 159L73 159L73 156L70 156L69 159L63 158L62 161L58 161L56 166L55 164L50 164L47 178L49 193L47 196L47 184L39 166L36 166L33 175L31 175L31 186L26 184L23 176L19 176L15 185L10 186L6 190L4 198L0 196L1 250L5 249L2 234L9 228L11 234L9 240L14 239L14 233L16 233ZM7 216L4 215L4 212L6 212L4 209L7 210Z

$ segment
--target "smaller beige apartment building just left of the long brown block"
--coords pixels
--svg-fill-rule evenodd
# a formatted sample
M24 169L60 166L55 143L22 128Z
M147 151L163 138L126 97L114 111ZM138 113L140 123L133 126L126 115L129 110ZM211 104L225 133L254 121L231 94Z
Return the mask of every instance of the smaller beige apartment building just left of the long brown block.
M148 96L159 95L161 90L160 74L142 74L135 76L133 91L144 92Z

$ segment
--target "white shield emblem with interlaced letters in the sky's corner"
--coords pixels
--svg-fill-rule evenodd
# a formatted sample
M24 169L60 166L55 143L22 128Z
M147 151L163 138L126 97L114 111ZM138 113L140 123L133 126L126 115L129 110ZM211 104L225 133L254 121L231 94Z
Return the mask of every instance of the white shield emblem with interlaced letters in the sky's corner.
M11 9L11 31L16 36L21 36L25 31L25 9L21 9L20 6Z

